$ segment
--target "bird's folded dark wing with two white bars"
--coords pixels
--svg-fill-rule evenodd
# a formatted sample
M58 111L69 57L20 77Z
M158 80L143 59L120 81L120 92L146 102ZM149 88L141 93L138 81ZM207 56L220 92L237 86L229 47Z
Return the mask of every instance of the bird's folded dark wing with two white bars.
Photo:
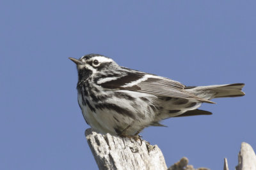
M147 74L140 71L129 70L123 76L108 78L109 81L100 80L98 84L107 89L122 89L136 92L143 92L155 96L177 97L184 99L195 99L205 103L213 103L206 99L195 96L184 90L184 85L154 74Z

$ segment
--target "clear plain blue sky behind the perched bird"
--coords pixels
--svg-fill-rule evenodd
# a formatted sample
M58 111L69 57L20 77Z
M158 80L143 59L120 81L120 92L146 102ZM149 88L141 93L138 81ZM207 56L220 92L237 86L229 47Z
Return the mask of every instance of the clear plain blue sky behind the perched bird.
M185 85L246 83L246 96L203 104L211 116L164 120L141 135L171 166L230 169L256 149L255 1L0 3L0 169L97 169L68 57L101 53Z

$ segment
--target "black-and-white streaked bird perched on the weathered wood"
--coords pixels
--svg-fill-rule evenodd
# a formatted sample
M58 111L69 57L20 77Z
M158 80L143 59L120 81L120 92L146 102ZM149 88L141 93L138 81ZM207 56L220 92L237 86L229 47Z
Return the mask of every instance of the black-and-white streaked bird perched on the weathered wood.
M77 64L78 103L86 122L105 134L134 135L165 118L211 115L197 110L215 97L244 96L243 83L186 87L178 81L118 66L99 54ZM127 128L129 127L129 128ZM125 131L124 131L125 129Z

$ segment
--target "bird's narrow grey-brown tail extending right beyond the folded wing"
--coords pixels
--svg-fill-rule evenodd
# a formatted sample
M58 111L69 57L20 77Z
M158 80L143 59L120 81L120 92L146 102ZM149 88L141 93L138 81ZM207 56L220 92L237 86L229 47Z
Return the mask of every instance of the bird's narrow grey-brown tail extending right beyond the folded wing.
M244 83L235 83L227 85L186 87L185 89L198 97L209 100L218 97L244 96L244 92L242 92L243 87Z

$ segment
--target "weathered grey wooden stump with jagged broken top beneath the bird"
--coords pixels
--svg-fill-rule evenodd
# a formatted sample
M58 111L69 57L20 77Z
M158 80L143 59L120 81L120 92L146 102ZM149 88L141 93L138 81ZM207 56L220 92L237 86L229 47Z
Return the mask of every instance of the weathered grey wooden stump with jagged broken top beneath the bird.
M99 134L93 129L85 131L86 139L92 150L99 169L152 169L166 170L164 156L157 145L147 141L135 141L132 138L120 138L111 134ZM227 159L224 159L224 170L228 170ZM196 170L188 165L183 157L168 170ZM200 167L197 170L207 170ZM248 143L242 143L239 152L239 164L236 170L256 170L256 156Z

